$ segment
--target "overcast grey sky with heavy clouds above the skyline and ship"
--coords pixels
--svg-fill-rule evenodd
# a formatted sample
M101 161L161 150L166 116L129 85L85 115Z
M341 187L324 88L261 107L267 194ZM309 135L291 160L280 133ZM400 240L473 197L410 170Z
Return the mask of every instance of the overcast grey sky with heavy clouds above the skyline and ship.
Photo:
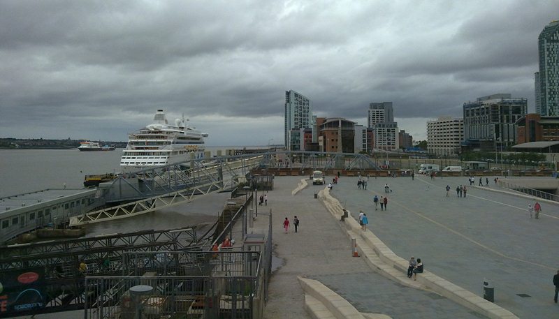
M0 137L126 141L163 108L209 145L283 143L284 91L400 129L511 93L534 107L559 1L0 1Z

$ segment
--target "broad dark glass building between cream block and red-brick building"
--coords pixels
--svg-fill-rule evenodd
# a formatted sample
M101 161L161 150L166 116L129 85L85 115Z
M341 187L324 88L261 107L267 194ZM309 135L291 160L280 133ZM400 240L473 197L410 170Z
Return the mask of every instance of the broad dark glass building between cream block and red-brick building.
M511 98L511 94L482 96L464 103L463 149L504 151L516 144L515 123L527 108L525 98Z

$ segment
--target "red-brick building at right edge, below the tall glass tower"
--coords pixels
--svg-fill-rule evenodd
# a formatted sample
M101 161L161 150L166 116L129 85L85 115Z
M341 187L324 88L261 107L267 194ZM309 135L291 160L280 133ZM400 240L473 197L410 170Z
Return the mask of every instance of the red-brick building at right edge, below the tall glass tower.
M526 114L516 121L517 144L559 141L559 117Z

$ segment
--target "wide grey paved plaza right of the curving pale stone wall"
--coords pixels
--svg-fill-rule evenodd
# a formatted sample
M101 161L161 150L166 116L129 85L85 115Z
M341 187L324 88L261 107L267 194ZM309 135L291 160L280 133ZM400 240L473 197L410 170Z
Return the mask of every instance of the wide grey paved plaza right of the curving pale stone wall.
M551 279L559 268L553 248L559 239L559 206L540 201L540 219L530 218L529 198L490 186L467 186L465 177L416 176L368 180L359 190L357 177L343 177L331 192L350 212L368 214L369 229L402 258L421 258L426 270L482 295L482 281L495 286L495 304L519 318L559 318ZM485 178L484 184L485 184ZM388 211L375 211L372 196L388 194ZM479 183L479 178L476 180ZM451 186L450 197L444 188Z

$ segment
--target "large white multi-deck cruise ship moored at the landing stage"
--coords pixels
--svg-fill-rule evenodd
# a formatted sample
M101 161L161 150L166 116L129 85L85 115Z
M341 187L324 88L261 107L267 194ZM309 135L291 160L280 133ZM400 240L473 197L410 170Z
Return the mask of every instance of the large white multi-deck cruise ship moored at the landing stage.
M154 168L186 162L204 156L204 138L208 133L187 126L184 117L169 124L163 110L157 110L153 123L129 134L128 144L122 151L120 166L123 171ZM184 163L188 166L188 163Z

